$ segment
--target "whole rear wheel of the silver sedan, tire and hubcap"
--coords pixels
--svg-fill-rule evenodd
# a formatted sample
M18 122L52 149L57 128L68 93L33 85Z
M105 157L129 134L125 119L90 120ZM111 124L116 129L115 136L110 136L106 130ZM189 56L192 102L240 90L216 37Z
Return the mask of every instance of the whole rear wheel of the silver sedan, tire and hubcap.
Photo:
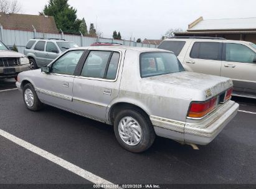
M114 129L117 141L130 152L143 152L154 142L154 129L148 115L137 109L118 113Z

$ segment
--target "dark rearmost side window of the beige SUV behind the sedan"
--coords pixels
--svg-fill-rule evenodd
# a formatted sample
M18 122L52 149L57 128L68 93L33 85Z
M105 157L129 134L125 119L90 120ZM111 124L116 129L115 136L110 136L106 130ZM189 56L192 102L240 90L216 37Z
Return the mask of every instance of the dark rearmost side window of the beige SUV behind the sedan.
M166 40L162 42L158 48L169 50L173 52L176 56L178 56L179 53L181 53L181 50L183 50L185 44L186 42L184 41Z

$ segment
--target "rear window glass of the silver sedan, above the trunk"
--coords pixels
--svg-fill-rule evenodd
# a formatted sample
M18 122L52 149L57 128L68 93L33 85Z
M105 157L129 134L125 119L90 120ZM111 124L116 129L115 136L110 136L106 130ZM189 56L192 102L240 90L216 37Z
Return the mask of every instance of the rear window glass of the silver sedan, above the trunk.
M147 52L140 55L141 78L185 71L178 58L169 52Z

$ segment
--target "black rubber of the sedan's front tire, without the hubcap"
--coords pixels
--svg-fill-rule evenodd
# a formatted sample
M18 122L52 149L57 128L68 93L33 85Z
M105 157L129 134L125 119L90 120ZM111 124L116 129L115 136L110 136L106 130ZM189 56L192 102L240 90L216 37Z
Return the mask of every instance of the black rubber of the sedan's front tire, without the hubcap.
M33 93L33 97L34 97L34 103L32 104L32 106L28 106L28 104L26 103L26 100L25 100L25 91L29 89L32 91ZM31 111L39 111L40 109L43 108L44 104L40 102L38 96L37 96L37 93L36 91L34 90L34 86L31 84L31 83L27 83L24 87L23 87L23 91L22 91L22 94L23 94L23 101L24 101L24 104L26 106L27 109L31 110Z

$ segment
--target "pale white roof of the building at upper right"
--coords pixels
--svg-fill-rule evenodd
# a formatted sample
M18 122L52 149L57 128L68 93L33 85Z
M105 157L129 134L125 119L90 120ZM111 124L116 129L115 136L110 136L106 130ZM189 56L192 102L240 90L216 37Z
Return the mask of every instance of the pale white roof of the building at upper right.
M198 30L254 30L256 29L256 17L238 19L211 19L202 17L189 24L187 31Z

